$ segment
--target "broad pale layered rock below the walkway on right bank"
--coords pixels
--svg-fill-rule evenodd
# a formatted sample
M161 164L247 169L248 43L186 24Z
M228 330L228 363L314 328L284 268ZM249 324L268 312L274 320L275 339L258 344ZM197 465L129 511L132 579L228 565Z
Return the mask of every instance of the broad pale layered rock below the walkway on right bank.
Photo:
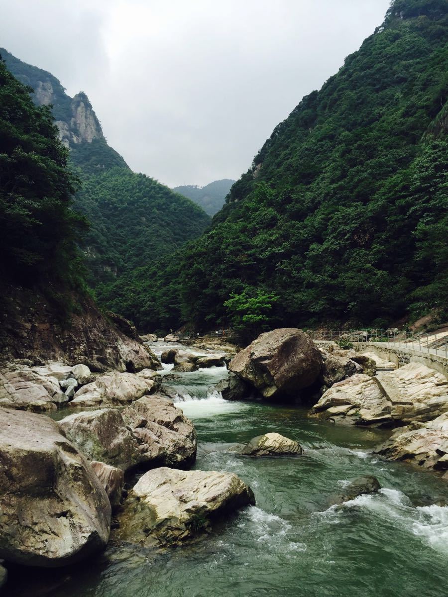
M428 421L448 412L448 381L418 363L376 377L355 375L330 387L313 411L358 425Z

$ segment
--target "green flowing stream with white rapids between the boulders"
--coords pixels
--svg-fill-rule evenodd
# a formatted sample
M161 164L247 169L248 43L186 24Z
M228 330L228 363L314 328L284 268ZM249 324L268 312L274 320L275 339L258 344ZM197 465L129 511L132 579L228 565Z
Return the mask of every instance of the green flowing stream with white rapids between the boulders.
M151 346L158 354L165 346ZM173 347L173 344L170 344ZM191 351L190 347L185 347ZM201 351L198 351L198 353ZM203 352L201 352L203 353ZM448 569L446 482L371 453L388 433L336 426L287 405L226 402L210 387L225 368L170 378L177 405L198 431L195 468L228 470L257 505L194 543L162 552L114 544L65 571L11 575L14 597L441 597ZM276 431L300 457L245 458L235 442ZM329 497L349 479L375 475L382 490L342 507ZM432 505L431 505L432 504Z

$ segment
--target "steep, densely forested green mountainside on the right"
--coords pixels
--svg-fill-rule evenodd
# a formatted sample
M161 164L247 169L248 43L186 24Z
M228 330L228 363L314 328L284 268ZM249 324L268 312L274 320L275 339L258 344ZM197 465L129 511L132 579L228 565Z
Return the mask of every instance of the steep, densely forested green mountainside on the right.
M445 0L392 2L360 50L275 127L169 276L149 267L128 279L127 308L143 313L152 293L147 325L174 327L171 304L177 324L252 334L445 318L447 11Z

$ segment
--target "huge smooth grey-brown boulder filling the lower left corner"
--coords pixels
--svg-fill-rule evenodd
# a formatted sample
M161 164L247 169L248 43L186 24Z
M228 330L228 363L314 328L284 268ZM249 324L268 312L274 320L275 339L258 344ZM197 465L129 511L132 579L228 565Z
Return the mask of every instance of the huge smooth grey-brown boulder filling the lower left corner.
M111 504L48 417L0 408L0 558L56 567L105 547Z

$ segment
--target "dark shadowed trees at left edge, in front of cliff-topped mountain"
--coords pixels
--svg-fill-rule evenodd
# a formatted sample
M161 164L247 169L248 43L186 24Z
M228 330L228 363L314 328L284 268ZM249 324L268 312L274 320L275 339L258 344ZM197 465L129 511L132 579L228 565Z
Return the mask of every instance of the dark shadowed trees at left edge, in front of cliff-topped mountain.
M32 285L48 278L82 284L72 210L78 180L47 106L37 107L0 61L0 251L2 278Z

